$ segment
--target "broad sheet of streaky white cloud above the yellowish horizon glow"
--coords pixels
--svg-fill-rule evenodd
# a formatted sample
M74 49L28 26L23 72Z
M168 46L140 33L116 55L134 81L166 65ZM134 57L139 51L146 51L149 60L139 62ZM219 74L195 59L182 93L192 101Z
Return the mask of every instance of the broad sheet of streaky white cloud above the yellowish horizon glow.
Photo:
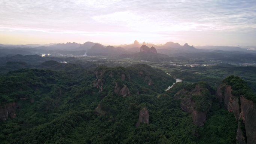
M256 1L1 0L0 17L0 33L150 33L163 39L189 31L243 31L252 35Z

